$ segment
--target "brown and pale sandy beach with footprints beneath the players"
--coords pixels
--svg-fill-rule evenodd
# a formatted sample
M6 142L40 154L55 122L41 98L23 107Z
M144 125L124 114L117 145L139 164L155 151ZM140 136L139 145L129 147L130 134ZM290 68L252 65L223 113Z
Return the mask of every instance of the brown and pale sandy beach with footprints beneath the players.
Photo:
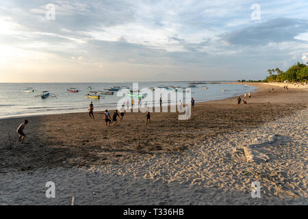
M95 111L34 116L20 144L23 119L0 120L0 203L307 205L307 90L246 84L258 87L247 105L196 103L191 120L152 113L149 127L142 113L109 128ZM245 149L268 161L248 162ZM47 181L56 198L44 196Z

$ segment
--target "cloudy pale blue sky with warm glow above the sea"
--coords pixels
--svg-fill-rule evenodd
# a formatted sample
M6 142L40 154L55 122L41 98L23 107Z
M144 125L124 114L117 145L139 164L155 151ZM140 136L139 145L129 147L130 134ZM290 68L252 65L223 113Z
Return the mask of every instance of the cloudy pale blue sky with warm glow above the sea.
M308 62L308 1L6 0L0 83L264 79Z

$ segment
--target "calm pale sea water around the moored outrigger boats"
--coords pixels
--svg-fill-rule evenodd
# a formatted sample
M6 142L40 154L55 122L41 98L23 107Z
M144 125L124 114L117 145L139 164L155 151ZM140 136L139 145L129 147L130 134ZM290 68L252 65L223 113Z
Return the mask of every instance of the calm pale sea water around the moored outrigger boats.
M253 92L252 86L225 84L224 81L207 81L192 88L192 97L196 102L226 99L232 96ZM187 87L189 82L139 82L138 88L157 86ZM88 87L92 91L103 90L114 86L133 88L133 83L0 83L0 118L36 116L44 114L63 114L70 112L88 112L88 105L93 101L95 111L116 109L118 101L123 98L115 92L113 95L101 95L100 99L88 99ZM201 87L206 86L207 90ZM33 88L34 92L24 92ZM67 88L77 88L79 92L66 92ZM38 96L42 91L54 94L46 99Z

